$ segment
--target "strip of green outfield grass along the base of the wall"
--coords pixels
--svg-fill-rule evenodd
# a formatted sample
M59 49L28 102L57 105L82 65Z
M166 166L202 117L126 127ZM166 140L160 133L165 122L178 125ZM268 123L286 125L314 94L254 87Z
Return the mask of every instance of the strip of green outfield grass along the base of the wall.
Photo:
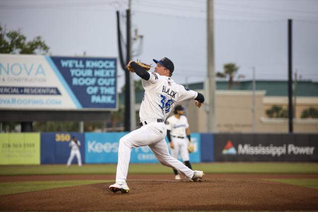
M0 175L43 175L43 174L115 174L116 164L84 164L82 167L72 165L30 165L0 166ZM205 173L277 173L277 174L318 174L318 163L200 163L192 164L193 169ZM129 173L170 174L171 169L161 164L130 164Z

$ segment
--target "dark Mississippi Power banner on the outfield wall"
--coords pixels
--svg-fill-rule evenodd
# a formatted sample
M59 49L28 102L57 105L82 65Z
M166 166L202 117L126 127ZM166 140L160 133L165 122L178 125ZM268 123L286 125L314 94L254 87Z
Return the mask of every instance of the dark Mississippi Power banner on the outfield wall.
M214 135L215 161L317 161L315 134Z

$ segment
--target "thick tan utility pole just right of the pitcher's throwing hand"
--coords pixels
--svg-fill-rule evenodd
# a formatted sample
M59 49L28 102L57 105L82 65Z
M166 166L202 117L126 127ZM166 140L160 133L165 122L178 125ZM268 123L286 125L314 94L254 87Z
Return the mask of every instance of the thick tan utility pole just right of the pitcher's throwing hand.
M214 11L213 0L207 0L207 83L206 98L208 132L216 132L215 70L214 70Z

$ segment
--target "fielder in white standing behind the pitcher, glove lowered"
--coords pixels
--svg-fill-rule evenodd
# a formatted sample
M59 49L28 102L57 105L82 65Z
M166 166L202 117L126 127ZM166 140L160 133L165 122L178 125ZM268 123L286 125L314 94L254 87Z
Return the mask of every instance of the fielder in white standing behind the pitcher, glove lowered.
M171 148L171 156L178 159L180 153L185 165L192 169L188 151L188 145L191 142L190 129L188 119L183 114L184 108L177 105L174 109L174 115L167 119L167 137ZM181 177L176 169L174 169L174 173L175 179L180 180Z

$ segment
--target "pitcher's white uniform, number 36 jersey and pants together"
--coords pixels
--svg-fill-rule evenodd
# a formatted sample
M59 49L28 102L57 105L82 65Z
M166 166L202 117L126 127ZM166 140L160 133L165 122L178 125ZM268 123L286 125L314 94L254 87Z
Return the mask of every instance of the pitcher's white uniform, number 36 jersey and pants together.
M170 77L157 73L149 74L149 80L142 79L145 90L139 111L142 126L119 141L116 182L126 181L131 149L147 145L161 164L176 169L191 179L194 171L169 154L164 122L175 105L195 99L198 93L176 84Z

